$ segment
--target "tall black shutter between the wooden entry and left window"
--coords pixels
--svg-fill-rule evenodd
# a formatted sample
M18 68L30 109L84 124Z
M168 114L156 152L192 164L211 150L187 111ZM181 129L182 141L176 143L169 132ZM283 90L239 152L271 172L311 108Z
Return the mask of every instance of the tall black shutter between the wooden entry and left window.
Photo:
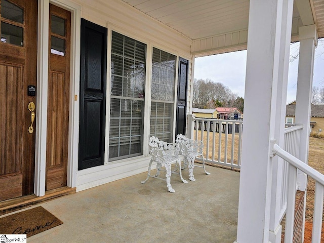
M78 170L104 164L107 28L81 19Z

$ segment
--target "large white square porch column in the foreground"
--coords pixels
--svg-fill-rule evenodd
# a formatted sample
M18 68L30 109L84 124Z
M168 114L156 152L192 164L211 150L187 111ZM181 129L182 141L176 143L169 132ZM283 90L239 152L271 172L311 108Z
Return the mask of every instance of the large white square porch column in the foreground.
M285 107L282 102L286 104L285 57L290 45L287 34L291 32L292 4L292 0L250 1L238 243L269 241L275 163L269 156L270 139L276 138L279 145L283 142L280 128Z

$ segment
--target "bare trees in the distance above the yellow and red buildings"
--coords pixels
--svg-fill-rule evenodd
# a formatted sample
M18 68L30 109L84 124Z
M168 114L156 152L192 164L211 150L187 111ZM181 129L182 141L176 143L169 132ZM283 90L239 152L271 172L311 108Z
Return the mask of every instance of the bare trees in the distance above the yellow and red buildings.
M243 112L244 99L221 83L215 83L209 78L195 78L193 81L193 107L202 109L235 107Z

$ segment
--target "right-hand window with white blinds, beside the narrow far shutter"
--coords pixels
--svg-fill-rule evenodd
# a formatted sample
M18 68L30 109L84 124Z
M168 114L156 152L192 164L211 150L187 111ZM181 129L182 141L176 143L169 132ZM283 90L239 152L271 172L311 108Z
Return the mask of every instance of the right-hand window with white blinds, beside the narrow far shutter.
M150 136L172 142L176 56L153 48Z

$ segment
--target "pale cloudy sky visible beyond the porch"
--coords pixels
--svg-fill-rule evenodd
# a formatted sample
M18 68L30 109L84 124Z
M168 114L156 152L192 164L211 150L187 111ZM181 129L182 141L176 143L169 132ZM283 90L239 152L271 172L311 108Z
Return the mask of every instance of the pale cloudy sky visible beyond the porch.
M299 52L299 43L291 45L293 56ZM222 83L234 94L244 98L247 51L195 58L194 78L211 79ZM298 59L289 63L287 104L296 100ZM315 50L313 86L324 88L324 39Z

